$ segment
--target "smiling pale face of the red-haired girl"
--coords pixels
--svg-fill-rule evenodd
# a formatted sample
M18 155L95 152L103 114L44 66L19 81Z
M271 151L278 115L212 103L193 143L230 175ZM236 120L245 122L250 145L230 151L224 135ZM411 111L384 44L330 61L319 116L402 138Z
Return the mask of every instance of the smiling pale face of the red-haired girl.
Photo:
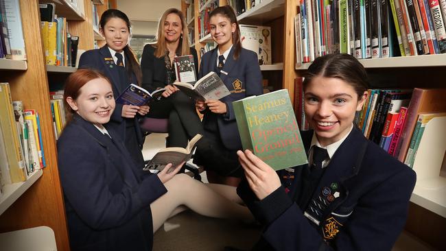
M102 128L115 110L115 99L110 82L99 77L86 82L79 89L77 99L67 97L67 103L80 117Z

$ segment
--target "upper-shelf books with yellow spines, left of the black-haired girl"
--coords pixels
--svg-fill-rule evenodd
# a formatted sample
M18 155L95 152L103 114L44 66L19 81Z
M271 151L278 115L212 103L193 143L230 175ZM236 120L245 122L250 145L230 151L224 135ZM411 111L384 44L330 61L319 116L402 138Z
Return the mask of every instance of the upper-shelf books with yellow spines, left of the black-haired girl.
M42 33L45 62L49 65L75 67L79 36L68 32L67 19L54 14L54 3L40 3L40 32Z

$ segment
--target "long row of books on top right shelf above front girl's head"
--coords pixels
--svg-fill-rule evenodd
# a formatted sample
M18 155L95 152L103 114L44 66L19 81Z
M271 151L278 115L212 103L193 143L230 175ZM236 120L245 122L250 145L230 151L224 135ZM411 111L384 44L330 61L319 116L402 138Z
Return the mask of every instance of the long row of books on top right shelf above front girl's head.
M446 52L446 1L300 0L297 62L327 53L388 58Z

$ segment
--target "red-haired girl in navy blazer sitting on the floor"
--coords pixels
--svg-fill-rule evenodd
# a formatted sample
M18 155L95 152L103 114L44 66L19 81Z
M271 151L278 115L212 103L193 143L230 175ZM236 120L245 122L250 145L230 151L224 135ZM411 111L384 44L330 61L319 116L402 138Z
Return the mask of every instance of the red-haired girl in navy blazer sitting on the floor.
M108 123L116 107L112 90L104 75L89 69L65 84L72 119L57 146L71 250L152 250L153 232L184 206L210 217L253 220L248 208L224 197L235 194L234 187L175 175L181 165L169 173L171 164L159 174L143 171Z

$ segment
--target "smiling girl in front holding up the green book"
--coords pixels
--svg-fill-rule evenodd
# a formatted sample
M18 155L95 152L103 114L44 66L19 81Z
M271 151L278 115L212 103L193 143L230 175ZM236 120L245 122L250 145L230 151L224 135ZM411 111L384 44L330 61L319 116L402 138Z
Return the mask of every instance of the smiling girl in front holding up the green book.
M237 193L265 226L254 250L392 249L416 176L353 124L367 88L366 71L353 56L314 60L303 82L314 128L302 133L310 165L294 169L290 192L252 152L237 153L246 175Z

